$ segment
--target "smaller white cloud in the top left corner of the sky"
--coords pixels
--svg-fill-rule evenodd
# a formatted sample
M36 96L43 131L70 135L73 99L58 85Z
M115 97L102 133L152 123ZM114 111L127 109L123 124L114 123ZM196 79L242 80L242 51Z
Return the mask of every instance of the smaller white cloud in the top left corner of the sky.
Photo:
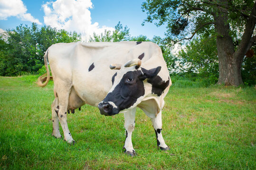
M6 20L8 17L18 17L22 21L35 22L39 25L42 23L38 19L27 13L27 7L22 0L0 0L0 19Z

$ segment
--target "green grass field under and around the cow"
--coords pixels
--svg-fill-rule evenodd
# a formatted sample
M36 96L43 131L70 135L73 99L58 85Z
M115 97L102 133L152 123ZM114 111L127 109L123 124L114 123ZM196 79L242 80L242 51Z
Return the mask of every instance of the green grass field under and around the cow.
M162 112L170 151L157 148L151 120L137 110L136 157L124 154L123 115L85 105L68 115L75 145L51 136L53 83L0 77L0 169L256 170L256 89L171 87ZM61 134L62 130L61 130Z

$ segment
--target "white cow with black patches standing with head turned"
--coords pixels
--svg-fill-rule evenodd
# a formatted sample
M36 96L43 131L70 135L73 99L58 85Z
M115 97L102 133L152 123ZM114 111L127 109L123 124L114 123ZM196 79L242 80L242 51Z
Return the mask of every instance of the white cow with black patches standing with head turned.
M111 116L124 114L126 139L124 153L136 155L132 144L136 108L151 118L161 150L169 150L162 137L161 110L171 79L161 48L153 42L71 42L50 46L44 56L47 76L38 78L44 87L54 81L55 99L51 106L53 133L64 140L75 140L67 126L67 112L84 104L98 107Z

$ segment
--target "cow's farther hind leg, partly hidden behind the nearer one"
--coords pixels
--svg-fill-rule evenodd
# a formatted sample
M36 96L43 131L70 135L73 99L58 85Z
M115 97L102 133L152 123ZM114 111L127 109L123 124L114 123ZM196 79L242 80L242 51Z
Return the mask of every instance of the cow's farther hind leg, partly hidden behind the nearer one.
M58 99L55 98L54 101L52 102L52 135L60 138L62 137L59 133L59 119L58 119L58 111L59 111L59 106L58 106Z

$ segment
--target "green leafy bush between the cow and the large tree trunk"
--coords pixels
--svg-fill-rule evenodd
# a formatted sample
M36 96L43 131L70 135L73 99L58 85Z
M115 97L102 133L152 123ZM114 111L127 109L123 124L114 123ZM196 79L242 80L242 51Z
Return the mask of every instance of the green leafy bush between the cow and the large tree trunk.
M179 51L181 72L197 73L202 78L218 80L218 55L215 37L195 38ZM212 80L211 80L212 81Z

